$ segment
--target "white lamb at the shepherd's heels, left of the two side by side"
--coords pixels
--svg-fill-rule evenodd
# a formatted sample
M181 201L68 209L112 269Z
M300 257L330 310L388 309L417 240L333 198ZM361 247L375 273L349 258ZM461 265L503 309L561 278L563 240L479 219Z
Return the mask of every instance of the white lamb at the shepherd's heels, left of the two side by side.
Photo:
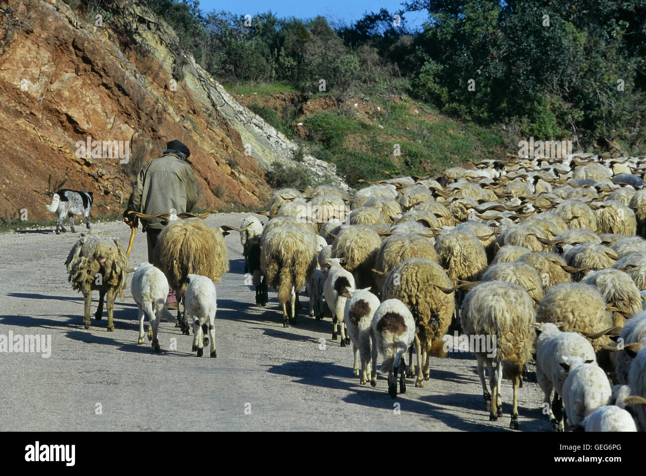
M152 347L156 352L160 351L160 343L157 339L160 319L177 323L177 319L166 307L168 295L168 280L159 268L150 263L141 263L137 266L132 283L130 283L132 298L139 308L139 343L143 343L143 316L148 316L148 340L152 340Z

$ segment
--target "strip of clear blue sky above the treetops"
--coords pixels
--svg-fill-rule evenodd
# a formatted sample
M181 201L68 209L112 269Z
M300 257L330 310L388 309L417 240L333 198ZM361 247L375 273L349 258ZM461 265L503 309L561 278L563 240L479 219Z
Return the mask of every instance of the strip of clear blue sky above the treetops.
M253 15L271 10L277 17L313 18L322 15L347 23L348 25L360 19L365 12L378 12L380 8L387 8L395 12L401 8L401 1L397 0L237 0L234 2L223 2L219 0L200 0L200 10L203 13L212 10L226 10L235 14ZM410 28L421 28L426 20L423 12L411 12L406 15L406 21Z

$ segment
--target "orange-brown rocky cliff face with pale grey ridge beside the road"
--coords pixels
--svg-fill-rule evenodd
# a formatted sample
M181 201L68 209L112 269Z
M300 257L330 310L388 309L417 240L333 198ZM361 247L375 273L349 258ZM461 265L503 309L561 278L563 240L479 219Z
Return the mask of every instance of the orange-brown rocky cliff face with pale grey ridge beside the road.
M262 204L271 191L264 172L297 146L193 58L177 58L163 20L136 2L115 3L128 14L96 26L60 0L0 0L8 19L0 30L0 216L26 208L29 219L51 218L47 191L62 180L94 191L92 215L120 211L138 169L172 139L191 149L198 207ZM313 157L305 162L315 175L335 173Z

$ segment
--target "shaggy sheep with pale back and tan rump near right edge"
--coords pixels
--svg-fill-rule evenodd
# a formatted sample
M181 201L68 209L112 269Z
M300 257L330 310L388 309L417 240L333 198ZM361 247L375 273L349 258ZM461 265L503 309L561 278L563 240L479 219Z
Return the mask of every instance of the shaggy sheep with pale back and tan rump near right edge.
M640 290L632 278L617 269L593 271L582 281L597 287L613 311L613 324L623 327L627 318L641 311Z

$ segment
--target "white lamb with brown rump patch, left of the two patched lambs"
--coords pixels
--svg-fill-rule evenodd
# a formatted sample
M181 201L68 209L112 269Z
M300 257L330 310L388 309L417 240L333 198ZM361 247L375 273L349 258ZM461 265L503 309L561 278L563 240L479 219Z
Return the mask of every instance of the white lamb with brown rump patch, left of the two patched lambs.
M348 298L344 309L343 321L348 326L348 336L352 341L355 356L353 376L361 376L359 384L377 385L377 346L372 345L372 316L379 307L379 298L370 288L357 289L344 294ZM361 373L359 373L359 358ZM372 363L372 374L368 365Z

